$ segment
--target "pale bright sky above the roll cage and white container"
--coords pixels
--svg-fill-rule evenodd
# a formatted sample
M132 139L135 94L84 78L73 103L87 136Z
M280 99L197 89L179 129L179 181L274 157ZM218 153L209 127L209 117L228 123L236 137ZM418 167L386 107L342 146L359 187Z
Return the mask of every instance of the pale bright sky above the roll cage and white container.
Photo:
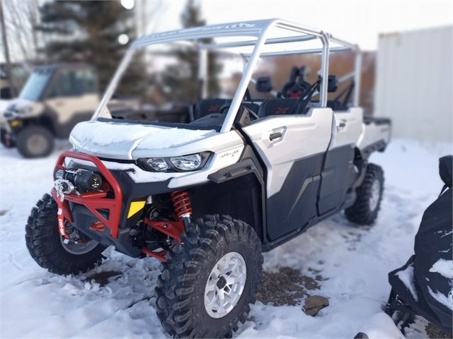
M156 1L148 1L152 8ZM185 1L166 1L154 30L180 28L179 15ZM382 32L399 32L453 25L453 0L202 0L202 13L208 24L283 18L326 30L355 42L362 49L377 49Z

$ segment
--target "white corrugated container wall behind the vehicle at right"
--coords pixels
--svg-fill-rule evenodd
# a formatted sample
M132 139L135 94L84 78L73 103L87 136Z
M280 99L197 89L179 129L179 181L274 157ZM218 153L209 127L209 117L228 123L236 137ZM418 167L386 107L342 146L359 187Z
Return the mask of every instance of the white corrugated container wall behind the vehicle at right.
M374 115L393 136L453 143L453 26L379 37Z

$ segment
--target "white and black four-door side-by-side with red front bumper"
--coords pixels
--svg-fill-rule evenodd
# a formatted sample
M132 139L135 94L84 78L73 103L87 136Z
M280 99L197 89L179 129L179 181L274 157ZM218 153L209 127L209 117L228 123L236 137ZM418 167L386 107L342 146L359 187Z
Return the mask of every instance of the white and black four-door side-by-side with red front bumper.
M275 30L286 35L272 37ZM254 38L239 39L244 35ZM207 38L214 43L203 43ZM108 101L132 55L179 40L194 42L198 52L253 48L241 55L248 62L232 100L193 102L187 124L111 118ZM289 79L297 94L285 85L278 97L253 99L250 83L272 92L269 78L251 79L258 58L291 52L265 47L306 40L322 45L292 53L321 54L319 78L307 85L299 74ZM351 81L348 90L334 100L327 100L338 85L328 76L329 44L338 45L330 52L352 49L357 55L355 72L343 77ZM201 85L207 79L202 56ZM231 336L255 302L262 251L340 210L360 225L376 220L384 174L367 159L386 148L390 124L363 119L359 88L360 50L354 44L285 20L140 38L91 121L71 132L74 149L59 157L55 187L33 208L25 227L31 256L57 274L90 270L111 245L128 256L157 258L162 273L156 311L165 330L176 337Z

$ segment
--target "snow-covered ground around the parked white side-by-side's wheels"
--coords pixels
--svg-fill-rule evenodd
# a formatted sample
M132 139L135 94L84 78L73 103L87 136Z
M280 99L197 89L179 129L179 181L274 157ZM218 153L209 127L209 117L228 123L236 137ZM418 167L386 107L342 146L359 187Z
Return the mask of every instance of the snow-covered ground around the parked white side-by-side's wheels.
M300 305L257 302L238 338L353 338L363 328L394 338L379 314L389 295L387 273L413 253L423 210L442 187L437 159L451 153L452 145L395 140L385 153L372 155L386 173L374 227L355 227L338 214L264 255L265 270L290 266L304 275L321 274L325 280L316 294L328 297L329 306L312 317ZM23 160L16 150L0 148L0 337L166 338L154 311L156 259L110 253L97 270L122 274L101 286L87 281L93 272L60 277L29 256L25 222L52 186L58 154ZM423 321L415 328L414 338L425 336Z

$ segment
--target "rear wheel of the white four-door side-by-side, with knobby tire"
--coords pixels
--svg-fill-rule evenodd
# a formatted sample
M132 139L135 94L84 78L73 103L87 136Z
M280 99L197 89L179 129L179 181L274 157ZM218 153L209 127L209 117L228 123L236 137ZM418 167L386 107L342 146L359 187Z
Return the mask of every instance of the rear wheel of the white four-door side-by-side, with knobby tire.
M354 205L345 210L346 218L358 225L372 225L381 208L383 192L384 171L378 165L369 164L365 179L357 187Z

